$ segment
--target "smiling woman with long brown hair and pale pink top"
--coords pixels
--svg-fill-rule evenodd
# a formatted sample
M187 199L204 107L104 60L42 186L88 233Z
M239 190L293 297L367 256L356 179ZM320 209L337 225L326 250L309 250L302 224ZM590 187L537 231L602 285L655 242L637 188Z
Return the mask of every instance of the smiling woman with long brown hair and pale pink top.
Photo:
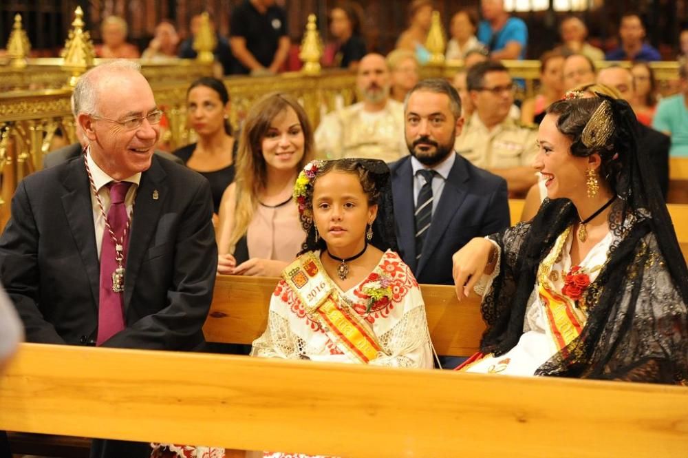
M296 258L304 234L292 189L313 156L313 129L294 98L268 94L252 106L220 203L218 273L278 276Z

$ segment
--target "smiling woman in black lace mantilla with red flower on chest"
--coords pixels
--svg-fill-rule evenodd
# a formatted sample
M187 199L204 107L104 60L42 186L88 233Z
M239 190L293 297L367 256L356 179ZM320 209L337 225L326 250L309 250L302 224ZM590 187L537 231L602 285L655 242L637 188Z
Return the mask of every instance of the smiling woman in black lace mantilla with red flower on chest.
M481 353L465 370L490 361L483 372L504 371L539 316L547 342L559 341L535 360L534 375L687 384L686 263L653 159L636 150L632 110L597 95L569 93L548 107L535 161L548 199L537 216L471 240L454 255L460 299L479 280L491 280L481 307ZM557 152L554 140L568 151ZM594 273L575 269L600 246L603 262ZM562 258L572 267L559 276L552 263ZM559 321L550 314L557 309L548 309L557 298L570 305Z

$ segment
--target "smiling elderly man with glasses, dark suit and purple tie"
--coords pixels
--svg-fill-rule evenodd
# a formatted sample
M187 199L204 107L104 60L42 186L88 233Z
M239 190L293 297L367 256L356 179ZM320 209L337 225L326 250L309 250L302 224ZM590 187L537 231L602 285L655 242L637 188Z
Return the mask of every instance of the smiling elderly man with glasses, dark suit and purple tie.
M0 237L0 280L29 342L191 350L215 284L208 181L153 154L160 111L138 64L74 90L87 154L25 178ZM148 457L94 441L92 457Z

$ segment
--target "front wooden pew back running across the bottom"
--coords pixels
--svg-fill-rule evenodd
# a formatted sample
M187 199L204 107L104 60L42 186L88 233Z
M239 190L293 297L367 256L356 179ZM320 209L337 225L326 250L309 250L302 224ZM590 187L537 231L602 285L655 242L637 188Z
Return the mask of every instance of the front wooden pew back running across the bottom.
M7 430L340 457L688 450L682 387L226 355L23 344L0 406Z

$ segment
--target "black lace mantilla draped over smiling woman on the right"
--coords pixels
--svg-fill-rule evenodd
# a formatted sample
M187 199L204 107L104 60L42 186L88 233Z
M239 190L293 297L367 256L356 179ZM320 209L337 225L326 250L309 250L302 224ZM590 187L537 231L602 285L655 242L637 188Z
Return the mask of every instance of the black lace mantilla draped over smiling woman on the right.
M618 197L609 217L614 241L581 298L588 309L581 335L536 375L687 384L688 269L649 171L654 158L636 149L635 115L627 103L608 100L614 134L607 148L615 162L607 178ZM532 221L491 236L502 249L501 271L482 302L483 353L501 355L517 344L537 267L577 218L570 200L545 200Z

